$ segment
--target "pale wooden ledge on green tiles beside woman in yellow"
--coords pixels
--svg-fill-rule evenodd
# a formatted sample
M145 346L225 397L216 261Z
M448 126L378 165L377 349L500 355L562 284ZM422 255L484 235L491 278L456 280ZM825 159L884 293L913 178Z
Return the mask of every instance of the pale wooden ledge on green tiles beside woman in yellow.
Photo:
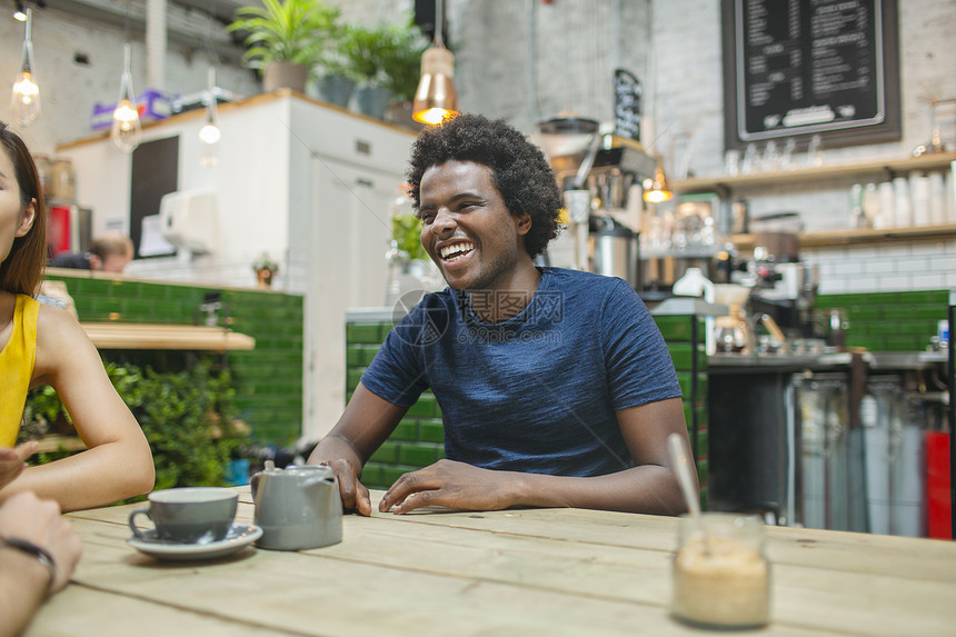
M256 339L221 327L117 322L80 324L98 349L253 349Z

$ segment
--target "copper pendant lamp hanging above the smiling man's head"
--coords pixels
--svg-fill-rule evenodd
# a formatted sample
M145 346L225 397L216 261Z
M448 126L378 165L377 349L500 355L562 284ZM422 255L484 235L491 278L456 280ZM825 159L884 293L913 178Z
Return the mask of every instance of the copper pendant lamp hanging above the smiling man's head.
M421 123L436 125L458 115L455 92L455 54L445 48L445 0L435 0L435 39L421 54L421 79L415 91L411 117Z

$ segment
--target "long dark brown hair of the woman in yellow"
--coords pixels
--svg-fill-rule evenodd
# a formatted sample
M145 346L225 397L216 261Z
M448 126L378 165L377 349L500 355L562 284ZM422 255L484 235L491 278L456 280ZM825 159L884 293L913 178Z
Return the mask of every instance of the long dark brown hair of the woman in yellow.
M0 263L0 290L33 296L43 278L47 263L47 205L33 156L27 145L10 127L0 121L0 146L13 163L20 187L20 212L37 200L33 226L22 237L13 239L7 259Z

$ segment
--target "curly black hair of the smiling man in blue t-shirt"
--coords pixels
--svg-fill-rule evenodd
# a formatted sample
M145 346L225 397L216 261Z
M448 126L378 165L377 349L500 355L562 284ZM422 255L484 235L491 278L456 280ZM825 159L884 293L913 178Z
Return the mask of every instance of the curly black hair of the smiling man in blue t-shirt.
M419 133L407 173L416 210L421 205L421 176L450 160L474 161L491 169L492 183L508 211L531 217L525 250L532 258L557 236L562 203L551 166L537 146L505 120L462 113Z

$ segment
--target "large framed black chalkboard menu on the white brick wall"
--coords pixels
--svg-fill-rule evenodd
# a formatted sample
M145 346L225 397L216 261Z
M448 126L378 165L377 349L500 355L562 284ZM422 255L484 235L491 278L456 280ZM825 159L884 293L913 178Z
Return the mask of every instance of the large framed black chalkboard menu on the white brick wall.
M728 148L899 139L896 0L723 0Z

